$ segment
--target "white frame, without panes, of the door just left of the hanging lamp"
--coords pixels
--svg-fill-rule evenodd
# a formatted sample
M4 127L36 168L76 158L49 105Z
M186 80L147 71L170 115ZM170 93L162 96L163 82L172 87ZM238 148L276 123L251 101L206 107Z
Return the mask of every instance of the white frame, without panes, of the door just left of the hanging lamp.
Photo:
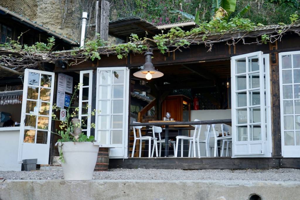
M98 140L98 116L101 116L101 111L99 111L99 105L98 102L99 99L99 76L100 76L100 71L104 71L104 70L124 70L124 82L120 85L124 85L125 91L123 93L123 127L122 129L114 129L114 130L122 130L123 131L123 136L122 136L122 144L101 144L100 143L100 147L110 147L110 158L127 158L128 157L128 112L129 112L129 69L128 67L101 67L101 68L97 68L97 92L96 92L96 115L95 115L95 139L96 141L99 143L100 141ZM104 85L112 85L113 84L104 84ZM112 94L110 94L112 95ZM103 100L110 100L110 109L111 109L111 101L112 98L110 99L103 99ZM107 115L107 114L103 114L103 115ZM109 134L111 131L111 115L113 114L109 114ZM107 143L110 143L108 141L110 141L110 136L106 138ZM122 148L122 154L120 153L115 153L117 152L117 149Z

